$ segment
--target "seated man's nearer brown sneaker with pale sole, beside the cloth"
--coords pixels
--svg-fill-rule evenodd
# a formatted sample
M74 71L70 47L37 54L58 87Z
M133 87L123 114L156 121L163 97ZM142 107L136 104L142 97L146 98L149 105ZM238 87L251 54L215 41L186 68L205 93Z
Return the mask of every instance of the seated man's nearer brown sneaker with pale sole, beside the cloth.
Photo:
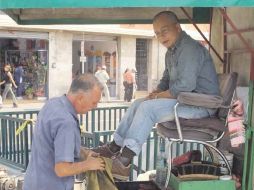
M112 158L112 175L115 179L127 181L129 179L131 165L129 164L127 167L124 166L120 161L120 157L121 155Z

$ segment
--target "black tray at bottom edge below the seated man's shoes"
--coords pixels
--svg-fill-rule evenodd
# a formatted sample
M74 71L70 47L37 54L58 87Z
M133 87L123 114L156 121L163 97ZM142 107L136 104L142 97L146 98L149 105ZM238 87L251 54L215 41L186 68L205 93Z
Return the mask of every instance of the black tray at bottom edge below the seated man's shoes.
M115 182L118 190L161 190L154 181Z

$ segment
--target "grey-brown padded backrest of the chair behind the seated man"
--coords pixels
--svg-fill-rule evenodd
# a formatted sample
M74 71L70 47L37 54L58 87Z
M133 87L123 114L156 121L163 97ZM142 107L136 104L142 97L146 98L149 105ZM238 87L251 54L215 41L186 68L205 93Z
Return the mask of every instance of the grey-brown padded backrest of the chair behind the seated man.
M223 105L225 106L229 106L232 101L234 91L237 85L237 77L238 77L238 74L235 72L232 72L229 74L218 74L220 94L221 94L221 97L223 98ZM227 117L227 114L228 114L228 109L226 108L220 108L218 110L219 118L225 119Z

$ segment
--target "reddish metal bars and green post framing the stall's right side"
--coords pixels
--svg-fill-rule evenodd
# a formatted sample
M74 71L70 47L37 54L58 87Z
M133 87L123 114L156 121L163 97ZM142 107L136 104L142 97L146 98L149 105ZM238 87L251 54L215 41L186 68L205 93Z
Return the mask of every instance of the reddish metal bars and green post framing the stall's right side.
M224 58L222 58L216 49L212 46L212 44L206 39L203 35L202 31L198 28L197 24L191 19L191 16L185 11L185 9L181 8L189 22L193 24L199 34L203 37L203 39L208 43L209 47L214 51L215 55L219 58L219 60L223 63L223 73L230 72L230 55L232 53L250 53L251 54L251 68L250 68L250 82L249 82L249 108L248 108L248 124L246 129L246 143L245 143L245 156L244 156L244 172L242 179L242 190L252 190L253 189L253 172L254 172L254 47L245 40L242 33L244 32L252 32L254 28L248 29L238 29L230 17L227 15L226 8L220 8L220 13L224 19ZM228 23L233 29L232 32L227 32L226 23ZM211 24L211 23L210 23ZM237 50L228 50L227 49L227 36L228 35L237 35L241 42L244 44L244 49ZM181 138L181 137L180 137ZM170 167L169 167L170 168ZM231 173L231 171L230 171ZM248 175L247 175L248 174ZM169 178L167 179L167 183L169 182Z

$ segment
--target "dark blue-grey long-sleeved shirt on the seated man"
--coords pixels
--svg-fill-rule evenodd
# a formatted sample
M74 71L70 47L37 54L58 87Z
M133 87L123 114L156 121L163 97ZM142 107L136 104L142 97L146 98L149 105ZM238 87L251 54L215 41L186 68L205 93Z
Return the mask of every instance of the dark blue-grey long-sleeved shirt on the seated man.
M165 56L165 71L160 90L169 90L176 98L179 92L219 95L219 83L208 50L182 31Z

